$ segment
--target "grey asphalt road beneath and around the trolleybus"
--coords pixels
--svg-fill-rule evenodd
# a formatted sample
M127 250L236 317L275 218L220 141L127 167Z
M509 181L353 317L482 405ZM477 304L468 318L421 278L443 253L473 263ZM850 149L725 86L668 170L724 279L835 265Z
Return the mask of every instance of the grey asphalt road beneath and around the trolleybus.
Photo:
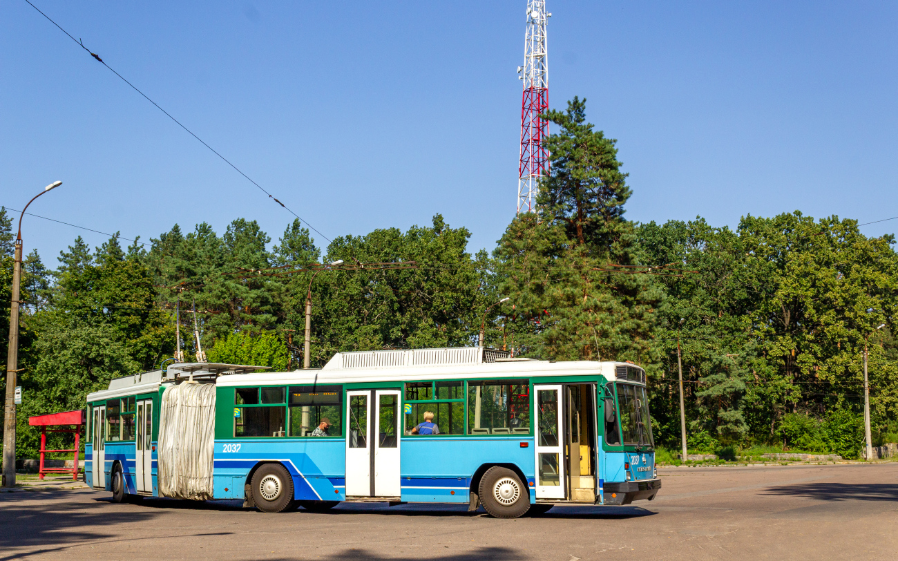
M465 506L112 504L87 489L0 493L6 559L895 559L898 463L661 469L655 501L496 520Z

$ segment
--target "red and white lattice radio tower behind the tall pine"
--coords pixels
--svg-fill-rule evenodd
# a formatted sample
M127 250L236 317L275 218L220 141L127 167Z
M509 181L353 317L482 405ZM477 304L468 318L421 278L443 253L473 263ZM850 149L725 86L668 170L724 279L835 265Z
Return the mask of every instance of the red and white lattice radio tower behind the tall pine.
M549 60L546 53L545 0L527 0L527 33L524 35L524 66L517 67L524 81L521 101L521 163L518 167L517 212L533 212L537 184L549 171L549 151L545 139L549 123L539 118L549 109Z

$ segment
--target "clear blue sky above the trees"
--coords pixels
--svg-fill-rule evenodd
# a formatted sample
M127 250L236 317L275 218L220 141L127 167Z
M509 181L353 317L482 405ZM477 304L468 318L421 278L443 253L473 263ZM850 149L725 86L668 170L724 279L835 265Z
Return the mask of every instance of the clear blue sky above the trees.
M514 215L525 0L32 1L331 239L442 213L491 250ZM618 139L631 220L898 215L898 4L547 4L550 105ZM0 205L63 180L31 211L143 241L292 220L22 0L0 61ZM106 239L26 220L48 267Z

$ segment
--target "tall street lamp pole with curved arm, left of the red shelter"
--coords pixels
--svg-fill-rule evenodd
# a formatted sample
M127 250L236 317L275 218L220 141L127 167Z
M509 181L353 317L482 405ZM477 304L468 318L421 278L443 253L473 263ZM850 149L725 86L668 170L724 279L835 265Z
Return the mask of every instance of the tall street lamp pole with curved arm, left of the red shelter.
M19 288L22 282L22 216L34 199L48 190L62 185L62 181L50 183L43 191L28 201L19 215L19 232L15 236L13 261L13 298L9 308L9 347L6 353L6 407L3 417L3 486L15 486L15 382L19 372Z

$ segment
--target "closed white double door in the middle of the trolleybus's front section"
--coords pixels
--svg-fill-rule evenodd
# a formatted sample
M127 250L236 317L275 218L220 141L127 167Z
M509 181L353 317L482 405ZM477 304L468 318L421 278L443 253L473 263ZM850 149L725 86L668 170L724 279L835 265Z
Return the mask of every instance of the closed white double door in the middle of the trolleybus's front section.
M399 496L399 390L348 391L346 494Z

